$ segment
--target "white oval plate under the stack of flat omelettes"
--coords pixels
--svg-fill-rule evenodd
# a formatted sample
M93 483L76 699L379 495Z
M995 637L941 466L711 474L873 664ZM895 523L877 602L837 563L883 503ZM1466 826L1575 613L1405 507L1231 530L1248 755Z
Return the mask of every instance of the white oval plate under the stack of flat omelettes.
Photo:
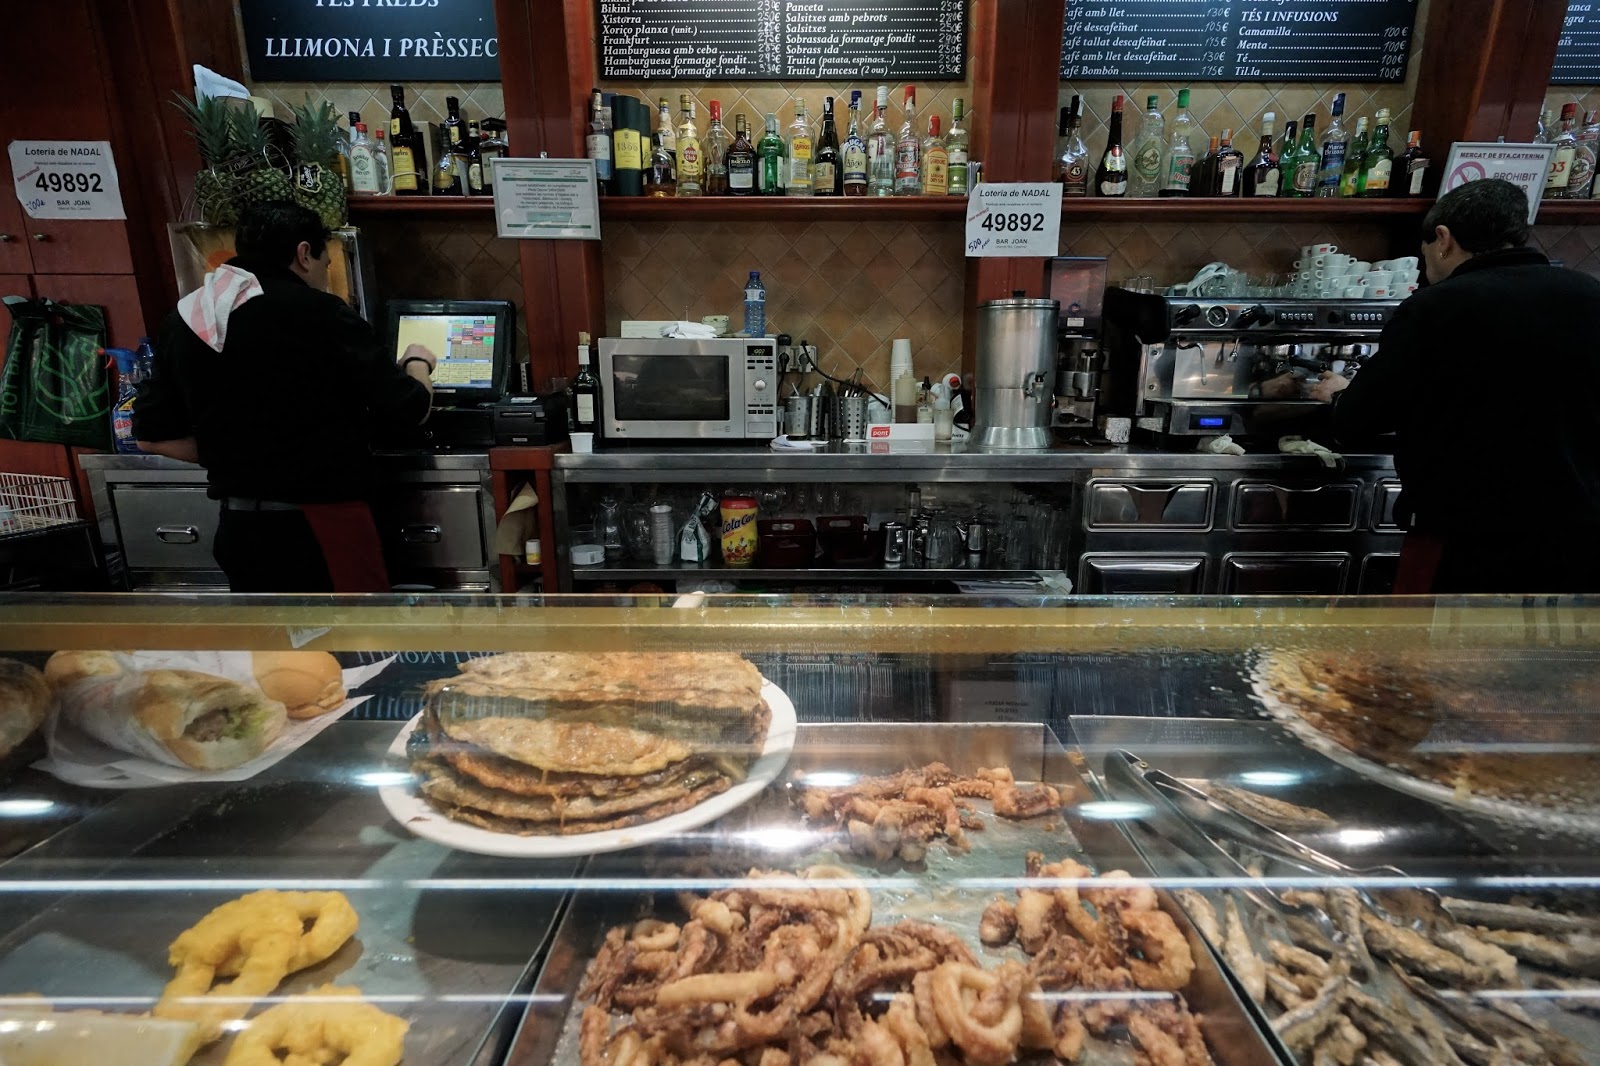
M771 784L784 765L789 752L795 747L795 704L782 688L770 680L762 680L762 699L771 712L766 727L766 744L760 757L750 767L750 773L726 792L718 792L702 804L688 810L667 815L659 821L646 821L626 829L605 829L602 832L579 832L570 837L562 836L517 836L514 832L494 832L480 829L464 821L440 813L432 804L416 794L416 784L386 784L378 789L389 813L414 836L434 844L472 852L474 855L501 855L506 858L568 858L574 855L600 855L602 852L622 852L643 844L666 840L690 829L699 829L709 821L722 818L728 812L742 807L755 799L762 789ZM405 760L405 746L416 730L422 715L405 723L400 735L389 744L389 754Z

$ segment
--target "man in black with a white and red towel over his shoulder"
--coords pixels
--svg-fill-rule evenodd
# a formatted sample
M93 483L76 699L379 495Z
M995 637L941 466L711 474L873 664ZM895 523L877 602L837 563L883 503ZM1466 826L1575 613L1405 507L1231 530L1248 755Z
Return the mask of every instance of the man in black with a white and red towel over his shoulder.
M413 346L397 363L323 291L328 240L296 203L248 208L238 254L162 325L134 403L144 451L206 467L235 592L389 591L370 439L427 418L435 357Z

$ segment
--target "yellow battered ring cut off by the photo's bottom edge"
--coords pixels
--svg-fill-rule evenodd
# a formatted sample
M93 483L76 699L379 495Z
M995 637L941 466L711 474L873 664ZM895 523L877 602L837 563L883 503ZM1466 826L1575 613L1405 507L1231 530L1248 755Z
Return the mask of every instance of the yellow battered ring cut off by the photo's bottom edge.
M234 1037L222 1066L395 1066L411 1026L360 996L328 986L269 1007Z

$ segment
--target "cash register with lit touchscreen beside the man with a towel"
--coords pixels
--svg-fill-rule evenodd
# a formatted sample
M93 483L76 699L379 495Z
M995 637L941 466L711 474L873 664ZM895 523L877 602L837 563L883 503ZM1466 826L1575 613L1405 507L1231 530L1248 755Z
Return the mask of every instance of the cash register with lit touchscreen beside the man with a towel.
M517 395L512 387L515 328L517 309L506 299L389 301L386 336L395 360L411 344L438 357L432 415L394 443L451 451L563 439L563 397Z

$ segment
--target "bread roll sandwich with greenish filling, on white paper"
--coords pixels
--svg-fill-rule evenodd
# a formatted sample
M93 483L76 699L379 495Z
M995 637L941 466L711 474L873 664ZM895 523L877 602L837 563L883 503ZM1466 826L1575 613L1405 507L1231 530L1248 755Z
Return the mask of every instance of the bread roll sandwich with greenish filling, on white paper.
M250 762L288 720L282 703L250 685L198 671L139 671L115 651L58 651L45 680L61 717L94 739L194 770Z

